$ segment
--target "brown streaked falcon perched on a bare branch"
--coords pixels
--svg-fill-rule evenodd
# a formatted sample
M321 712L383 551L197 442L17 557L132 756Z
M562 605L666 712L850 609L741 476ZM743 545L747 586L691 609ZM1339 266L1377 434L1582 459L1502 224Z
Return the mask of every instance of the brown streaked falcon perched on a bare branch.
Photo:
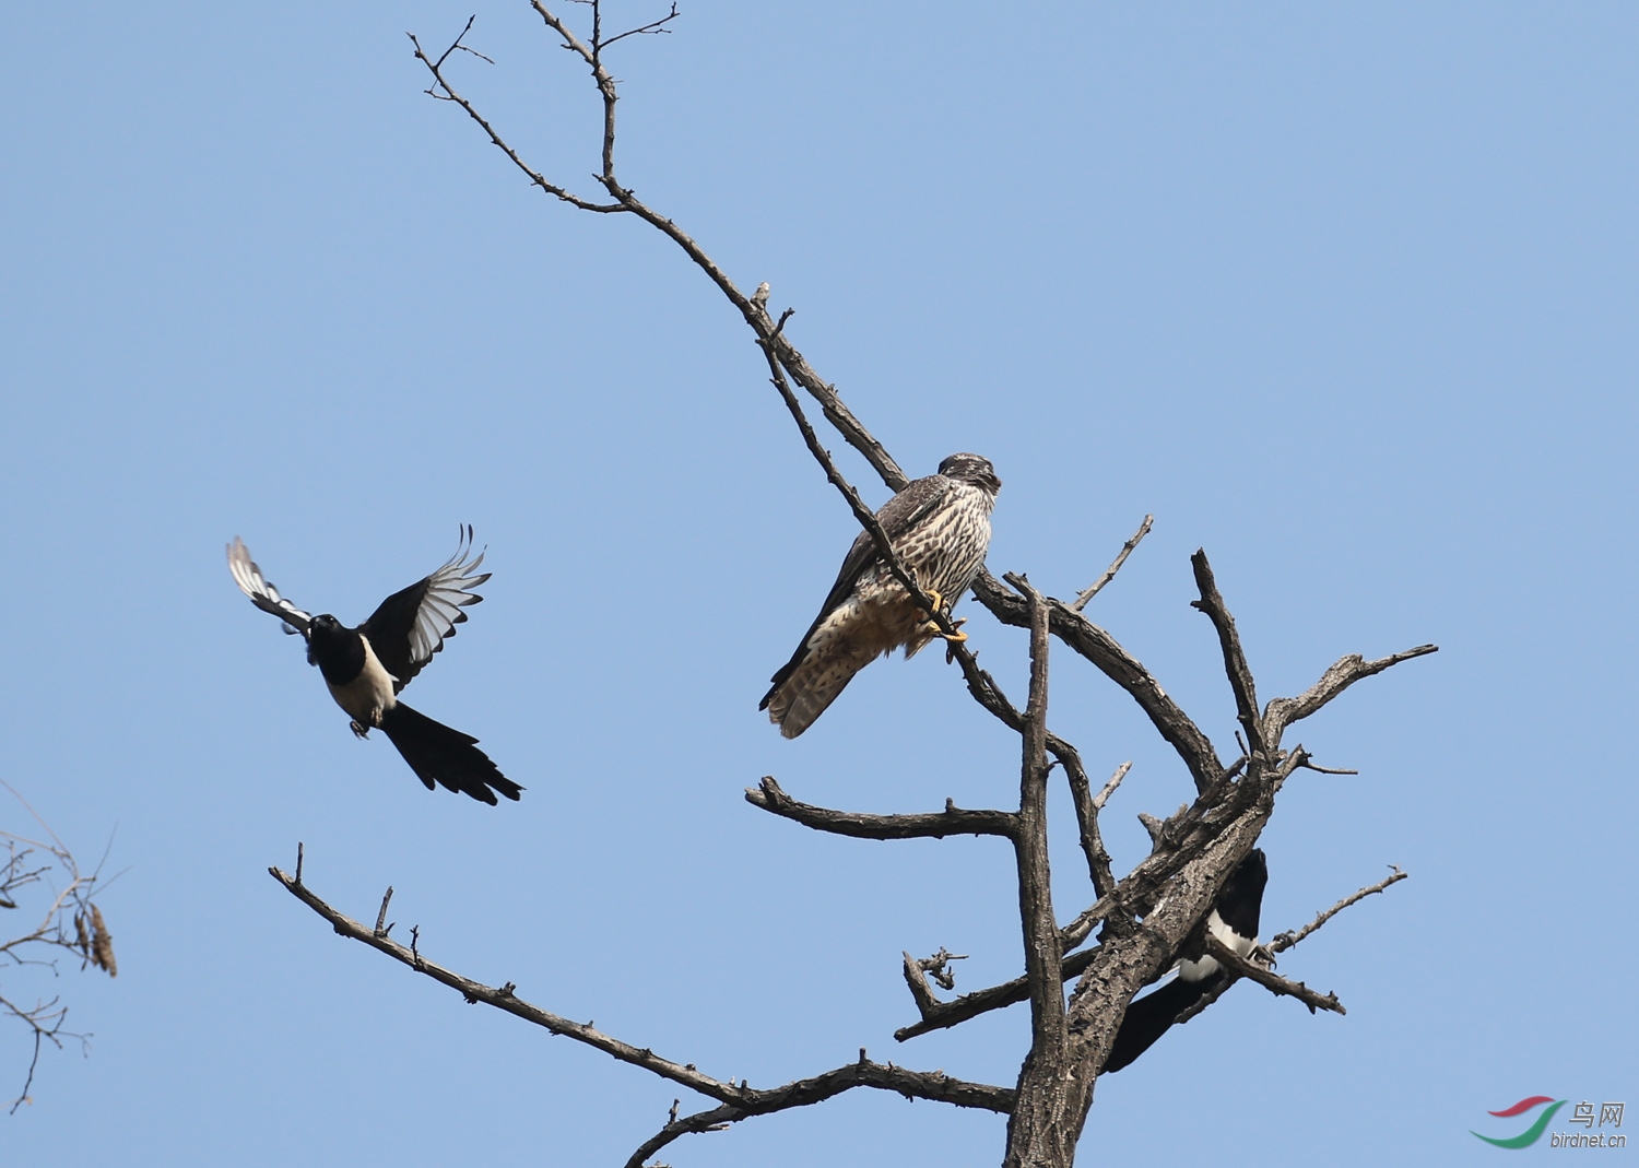
M985 562L990 511L1000 490L990 459L952 454L939 464L939 473L908 483L877 511L900 564L946 613ZM879 655L905 645L905 655L913 657L936 636L942 636L939 627L916 608L882 562L870 532L862 531L820 616L792 660L774 675L774 686L757 709L767 709L780 734L795 739ZM959 632L954 639L967 636Z

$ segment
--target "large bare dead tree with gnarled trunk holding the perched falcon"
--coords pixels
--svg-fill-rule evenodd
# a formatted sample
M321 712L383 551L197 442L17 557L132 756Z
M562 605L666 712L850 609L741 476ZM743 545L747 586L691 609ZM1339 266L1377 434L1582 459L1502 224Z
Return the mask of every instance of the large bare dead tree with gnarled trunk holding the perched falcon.
M462 34L436 56L425 51L415 36L410 38L416 59L431 77L426 92L465 111L490 143L544 193L582 211L633 215L683 249L751 328L767 364L769 380L797 423L810 454L824 470L826 478L841 491L860 526L870 532L892 573L924 611L934 614L933 619L941 632L954 634L956 626L906 573L875 514L844 480L810 424L793 383L820 406L824 419L865 457L887 487L897 491L906 485L908 477L882 442L865 429L838 396L836 388L821 378L792 344L785 331L792 310L785 310L779 318L770 315L767 283L759 285L751 295L741 292L739 285L711 260L700 244L672 220L639 200L616 175L615 110L618 90L606 69L605 52L628 36L669 31L665 25L677 16L675 7L665 16L647 25L610 36L603 29L598 0L577 2L587 3L590 8L592 28L585 39L554 15L543 0L528 0L544 23L547 34L557 38L562 48L590 70L602 102L602 165L595 175L602 193L595 198L575 193L534 170L479 108L456 88L449 72L452 61L464 56L488 61L464 43L472 29L470 20ZM941 1071L911 1071L892 1063L879 1063L870 1060L864 1048L854 1063L777 1088L754 1088L744 1080L739 1083L720 1081L703 1075L692 1063L662 1058L646 1047L639 1048L602 1034L590 1024L574 1022L533 1006L515 994L513 983L500 988L487 986L429 962L420 950L416 930L411 930L408 945L388 935L392 930L392 926L387 924L390 888L382 899L375 926L370 927L331 908L302 883L300 849L295 875L287 875L279 868L270 868L270 871L293 896L325 917L336 932L361 940L411 970L457 989L469 1003L482 1001L503 1009L552 1034L575 1039L613 1058L697 1091L718 1104L692 1116L680 1116L679 1106L674 1104L665 1125L633 1152L626 1161L628 1168L641 1168L649 1157L685 1134L721 1130L752 1116L816 1104L854 1088L898 1091L906 1098L936 1099L959 1107L982 1107L1005 1114L1008 1116L1005 1165L1067 1168L1074 1163L1075 1142L1092 1107L1093 1084L1110 1055L1128 1003L1139 989L1160 978L1180 957L1211 953L1234 978L1249 978L1277 994L1296 998L1311 1012L1318 1009L1344 1012L1336 994L1319 994L1301 981L1288 981L1269 968L1270 962L1241 958L1214 939L1208 939L1203 935L1201 921L1210 912L1229 873L1257 842L1274 814L1280 788L1300 770L1323 770L1313 763L1310 752L1301 744L1285 745L1287 732L1355 681L1382 673L1403 660L1434 652L1434 645L1418 645L1377 660L1347 655L1326 670L1305 693L1259 704L1257 688L1241 650L1234 618L1218 591L1206 554L1196 552L1192 557L1192 568L1200 598L1193 601L1193 606L1208 618L1218 637L1241 727L1237 752L1229 762L1224 762L1218 747L1167 696L1149 670L1126 652L1110 632L1083 616L1087 603L1115 577L1147 529L1149 519L1146 518L1144 526L1121 549L1115 564L1072 601L1044 596L1031 586L1024 575L1006 575L1003 582L988 572L980 572L974 585L978 601L998 621L1029 632L1029 693L1023 706L1008 698L995 678L978 667L967 645L952 644L949 649L949 660L960 668L967 690L978 706L1019 736L1019 798L1016 808L975 811L946 801L944 809L919 814L856 814L800 803L787 795L772 776L746 791L746 799L752 806L813 831L880 840L993 835L1011 845L1018 868L1019 924L1024 939L1023 975L988 989L941 1001L929 985L929 975L944 989L951 989L954 986L947 970L951 955L941 952L929 958L913 958L906 953L905 980L919 1017L895 1032L895 1039L905 1042L934 1029L959 1025L1013 1003L1029 1001L1029 1053L1019 1070L1018 1083L1011 1088L964 1083ZM1121 878L1115 875L1110 853L1105 850L1098 816L1128 768L1118 770L1095 795L1077 749L1052 732L1047 718L1047 663L1049 645L1054 639L1090 662L1137 703L1160 737L1177 750L1195 783L1196 796L1192 804L1178 808L1165 819L1141 816L1151 832L1151 853ZM1064 926L1059 924L1060 917L1054 909L1047 880L1047 786L1056 768L1062 770L1070 788L1080 827L1082 853L1092 885L1090 904ZM1401 880L1403 875L1396 870L1378 885L1364 888L1328 909L1301 930L1280 934L1270 945L1270 953L1290 948L1342 908L1362 896L1382 891ZM1095 940L1096 944L1090 944ZM1075 988L1065 998L1064 986L1070 981L1075 981ZM1193 1016L1208 1004L1211 999L1200 1003L1188 1014Z

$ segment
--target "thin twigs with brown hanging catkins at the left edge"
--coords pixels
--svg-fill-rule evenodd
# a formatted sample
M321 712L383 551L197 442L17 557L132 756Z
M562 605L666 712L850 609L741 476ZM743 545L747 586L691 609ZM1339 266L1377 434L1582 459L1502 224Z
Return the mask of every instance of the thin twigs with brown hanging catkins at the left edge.
M110 978L118 975L113 958L113 937L103 921L102 909L92 901L98 871L82 873L74 853L46 826L28 801L10 783L0 781L34 821L38 832L18 835L0 831L0 911L23 912L23 924L10 940L0 940L0 970L49 970L57 976L57 962L64 955L79 958L80 968L95 965ZM38 834L43 839L33 839ZM0 929L5 937L10 929ZM23 1089L16 1093L10 1111L30 1101L34 1071L39 1068L39 1052L51 1044L62 1050L66 1042L82 1047L89 1034L64 1029L69 1007L61 994L28 998L0 986L0 1017L10 1017L28 1029L31 1053Z

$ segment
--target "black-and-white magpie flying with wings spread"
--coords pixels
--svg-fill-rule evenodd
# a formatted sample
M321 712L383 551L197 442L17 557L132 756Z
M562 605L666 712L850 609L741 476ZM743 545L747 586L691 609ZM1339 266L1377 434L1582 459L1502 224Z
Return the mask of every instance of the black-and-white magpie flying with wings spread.
M385 734L426 790L438 783L495 806L497 791L516 799L523 788L502 775L479 750L475 737L434 722L398 701L398 691L444 647L444 637L456 636L456 626L467 619L462 609L484 600L472 590L490 573L479 575L484 554L467 560L470 552L472 527L467 526L461 529L461 544L444 567L395 591L356 629L329 613L303 613L280 596L238 536L228 546L228 570L252 604L282 619L285 632L303 636L308 665L318 665L329 696L352 718L354 734L361 739L372 729Z

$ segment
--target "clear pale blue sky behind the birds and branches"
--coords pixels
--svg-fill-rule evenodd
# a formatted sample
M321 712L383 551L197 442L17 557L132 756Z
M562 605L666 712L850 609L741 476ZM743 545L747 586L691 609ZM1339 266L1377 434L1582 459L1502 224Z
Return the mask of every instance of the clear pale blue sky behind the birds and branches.
M670 1086L334 937L266 875L297 840L343 909L393 885L436 960L720 1076L860 1045L1016 1076L1019 1009L892 1040L900 950L970 953L962 989L1018 971L1003 847L823 837L741 796L772 773L841 808L1006 804L1016 740L933 652L870 667L797 742L757 714L854 521L672 244L531 192L421 93L405 31L467 15L0 13L0 776L82 857L118 826L128 868L103 901L120 978L41 983L93 1050L44 1062L8 1160L593 1165L661 1125ZM593 92L531 21L480 5L495 66L452 75L590 188ZM1100 1083L1083 1161L1229 1139L1483 1163L1488 1109L1639 1094L1639 15L687 3L674 28L613 51L623 180L798 310L911 473L993 459L992 570L1074 595L1154 513L1090 613L1221 747L1195 547L1265 698L1441 645L1301 727L1360 775L1300 775L1264 835L1265 935L1411 873L1282 962L1349 1016L1237 986ZM351 622L457 523L495 578L411 701L477 734L516 806L356 742L223 564L243 536ZM1021 695L1023 636L975 608ZM1095 772L1134 760L1106 816L1129 865L1136 813L1187 775L1056 660L1054 727ZM1052 811L1069 917L1087 890ZM0 1032L0 1091L20 1044ZM664 1158L1000 1155L997 1117L854 1093Z

